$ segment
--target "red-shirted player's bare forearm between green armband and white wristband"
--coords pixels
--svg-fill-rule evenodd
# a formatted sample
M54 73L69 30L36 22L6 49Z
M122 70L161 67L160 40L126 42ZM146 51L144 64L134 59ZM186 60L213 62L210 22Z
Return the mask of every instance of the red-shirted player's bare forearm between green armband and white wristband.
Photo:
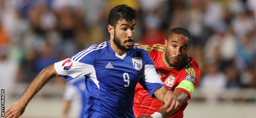
M189 96L182 90L174 90L174 94L177 97L179 105L178 105L178 107L172 109L169 112L167 112L168 108L161 107L157 112L162 114L162 118L167 118L167 117L171 116L171 114L173 114L175 111L177 111L189 99Z

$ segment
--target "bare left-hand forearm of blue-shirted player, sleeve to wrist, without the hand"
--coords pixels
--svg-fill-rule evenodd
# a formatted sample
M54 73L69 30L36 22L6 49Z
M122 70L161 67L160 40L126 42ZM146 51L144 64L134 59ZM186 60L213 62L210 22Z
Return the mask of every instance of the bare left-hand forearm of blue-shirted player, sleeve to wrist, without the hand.
M32 81L32 83L30 83L18 102L26 106L31 98L43 87L43 85L57 75L58 74L55 71L54 65L44 68Z

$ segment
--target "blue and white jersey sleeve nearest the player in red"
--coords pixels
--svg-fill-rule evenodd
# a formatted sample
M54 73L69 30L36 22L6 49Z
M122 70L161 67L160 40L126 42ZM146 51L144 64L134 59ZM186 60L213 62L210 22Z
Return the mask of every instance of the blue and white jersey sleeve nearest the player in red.
M144 72L141 75L141 79L139 79L139 83L144 87L144 89L149 92L152 98L155 97L153 94L155 90L159 87L162 87L164 83L161 81L157 72L155 71L155 65L150 58L149 54L143 50L142 56L144 57Z

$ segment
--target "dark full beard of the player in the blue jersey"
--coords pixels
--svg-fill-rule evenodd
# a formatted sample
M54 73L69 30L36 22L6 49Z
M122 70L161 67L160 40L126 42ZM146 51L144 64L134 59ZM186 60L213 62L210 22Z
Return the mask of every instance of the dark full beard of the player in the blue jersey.
M113 42L114 42L114 44L117 46L117 48L119 48L120 50L128 51L128 50L133 49L133 45L132 45L132 46L129 46L128 48L126 48L125 46L123 46L123 45L121 44L121 39L120 39L119 37L117 37L116 31L114 31L114 39L113 39ZM126 43L126 42L133 42L133 39L128 39L128 40L126 40L124 43Z

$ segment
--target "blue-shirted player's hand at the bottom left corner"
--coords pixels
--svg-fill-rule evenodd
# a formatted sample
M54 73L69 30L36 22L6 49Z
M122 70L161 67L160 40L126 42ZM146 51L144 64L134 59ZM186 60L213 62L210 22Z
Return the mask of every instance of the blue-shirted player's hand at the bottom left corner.
M4 118L18 118L25 111L25 105L19 102L13 103L5 112Z

